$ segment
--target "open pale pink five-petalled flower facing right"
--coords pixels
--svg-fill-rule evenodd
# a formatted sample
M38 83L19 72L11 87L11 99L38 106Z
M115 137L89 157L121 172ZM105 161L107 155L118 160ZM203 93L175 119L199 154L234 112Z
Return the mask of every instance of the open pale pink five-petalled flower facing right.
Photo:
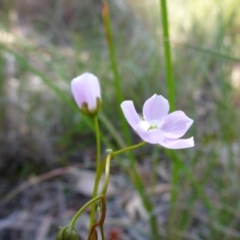
M193 137L180 139L193 120L182 111L168 114L169 103L163 96L154 94L144 103L143 118L136 112L132 101L124 101L121 108L128 123L143 141L170 149L194 146Z

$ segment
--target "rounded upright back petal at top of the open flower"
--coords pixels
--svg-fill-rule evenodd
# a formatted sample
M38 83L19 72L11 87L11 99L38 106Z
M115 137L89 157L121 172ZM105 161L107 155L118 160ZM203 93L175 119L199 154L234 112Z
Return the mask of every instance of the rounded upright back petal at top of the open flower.
M161 95L154 94L143 105L143 116L147 122L160 121L168 112L168 100Z

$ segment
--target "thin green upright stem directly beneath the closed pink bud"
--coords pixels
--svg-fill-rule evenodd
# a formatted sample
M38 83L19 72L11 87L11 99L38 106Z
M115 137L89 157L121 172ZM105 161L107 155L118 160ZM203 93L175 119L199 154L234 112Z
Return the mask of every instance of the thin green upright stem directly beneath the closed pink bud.
M94 120L94 125L95 125L95 132L96 132L96 178L95 178L95 182L94 182L92 198L95 198L98 193L99 180L97 179L97 176L99 175L100 165L101 165L101 162L100 162L101 145L100 145L100 131L99 131L99 124L98 124L97 116L94 117L93 120ZM93 204L92 208L91 208L90 228L94 223L94 216L95 216L95 204Z

